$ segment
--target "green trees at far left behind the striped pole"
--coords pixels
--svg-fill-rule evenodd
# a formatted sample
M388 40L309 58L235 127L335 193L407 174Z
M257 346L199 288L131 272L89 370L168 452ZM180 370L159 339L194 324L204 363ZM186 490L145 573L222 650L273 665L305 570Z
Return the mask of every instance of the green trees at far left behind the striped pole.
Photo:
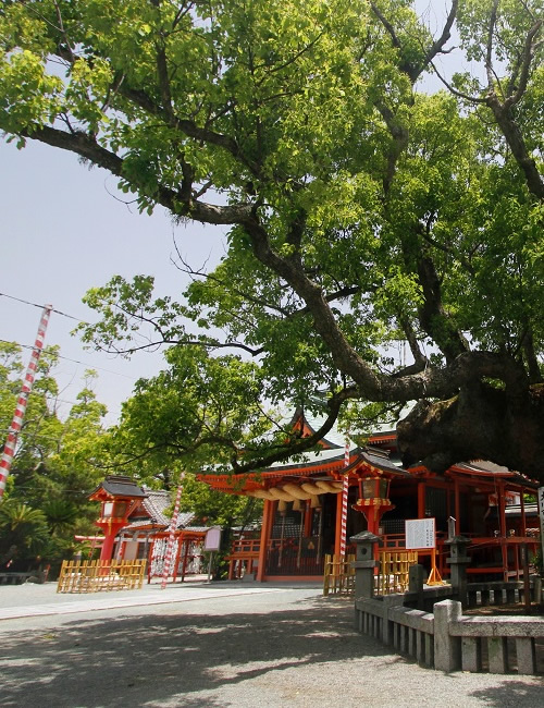
M87 373L77 403L65 419L57 413L53 376L57 349L44 350L29 394L3 500L0 501L0 557L32 561L70 557L74 534L92 532L96 504L87 496L103 477L106 407L90 389ZM0 343L0 427L11 425L21 390L21 349ZM10 550L11 549L11 550ZM10 558L8 558L8 556Z

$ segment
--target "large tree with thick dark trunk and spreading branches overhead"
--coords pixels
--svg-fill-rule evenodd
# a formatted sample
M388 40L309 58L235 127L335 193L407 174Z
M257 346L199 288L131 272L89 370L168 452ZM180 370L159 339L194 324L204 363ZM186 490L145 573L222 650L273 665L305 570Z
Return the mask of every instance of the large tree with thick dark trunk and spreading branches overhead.
M181 261L183 303L145 278L90 293L99 345L136 349L143 318L254 356L270 401L325 392L319 434L346 402L417 402L406 463L544 479L542 8L452 0L432 36L413 4L4 1L0 127L104 168L143 210L230 227L212 272ZM454 32L473 71L445 76Z

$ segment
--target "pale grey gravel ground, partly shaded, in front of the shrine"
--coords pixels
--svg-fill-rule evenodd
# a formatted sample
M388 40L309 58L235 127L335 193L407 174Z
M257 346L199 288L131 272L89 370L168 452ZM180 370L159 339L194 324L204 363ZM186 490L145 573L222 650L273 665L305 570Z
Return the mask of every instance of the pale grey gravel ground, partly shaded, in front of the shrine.
M318 588L244 590L190 599L187 589L175 603L4 620L0 706L544 705L541 678L418 667L356 633L351 603Z

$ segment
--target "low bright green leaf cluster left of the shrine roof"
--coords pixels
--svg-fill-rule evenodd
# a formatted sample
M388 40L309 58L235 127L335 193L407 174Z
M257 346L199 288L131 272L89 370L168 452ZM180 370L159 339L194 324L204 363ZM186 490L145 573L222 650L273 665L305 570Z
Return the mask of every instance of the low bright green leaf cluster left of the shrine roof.
M224 471L285 436L264 408L255 364L210 356L202 347L173 347L166 361L169 368L139 380L123 404L109 442L113 465L170 485L176 467Z

